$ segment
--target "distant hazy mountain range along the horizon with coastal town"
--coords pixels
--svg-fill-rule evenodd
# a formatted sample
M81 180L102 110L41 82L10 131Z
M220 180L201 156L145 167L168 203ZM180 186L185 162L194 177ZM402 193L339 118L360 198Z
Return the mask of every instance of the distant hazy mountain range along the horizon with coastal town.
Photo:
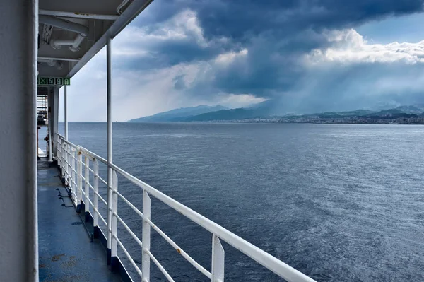
M348 117L364 117L372 119L388 119L397 117L424 117L424 104L400 106L387 110L355 110L349 112L320 112L314 114L280 114L273 110L273 101L268 100L250 107L228 109L221 105L186 107L168 112L161 112L149 117L131 119L129 122L216 122L240 121L244 119L278 118L320 118L337 119Z

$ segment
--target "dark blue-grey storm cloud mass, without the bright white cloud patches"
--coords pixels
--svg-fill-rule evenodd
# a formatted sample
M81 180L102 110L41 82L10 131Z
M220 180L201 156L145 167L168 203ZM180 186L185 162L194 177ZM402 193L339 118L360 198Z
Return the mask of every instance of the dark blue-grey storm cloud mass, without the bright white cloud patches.
M420 13L423 0L155 0L134 25L144 28L146 35L154 35L187 9L196 14L204 45L189 30L186 37L146 42L140 47L148 50L148 56L123 58L118 67L160 69L210 61L225 52L247 49L245 57L225 68L212 65L206 71L208 79L199 78L190 87L184 83L184 75L175 77L175 89L184 89L187 95L251 93L278 98L276 107L280 110L302 112L352 110L384 99L395 103L422 99L418 90L399 93L401 90L387 88L387 93L377 93L379 89L372 88L375 93L367 93L363 89L385 76L404 77L404 65L391 64L388 68L387 64L335 63L307 69L302 56L312 49L331 46L325 30L355 28L371 20ZM221 40L223 37L225 40ZM423 72L418 64L407 67Z

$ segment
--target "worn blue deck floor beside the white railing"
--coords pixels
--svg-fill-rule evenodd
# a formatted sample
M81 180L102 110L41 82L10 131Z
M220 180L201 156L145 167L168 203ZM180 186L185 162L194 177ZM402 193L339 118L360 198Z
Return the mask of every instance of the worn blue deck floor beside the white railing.
M47 159L38 160L40 281L122 281L107 268L100 242L90 242L71 200L59 193L66 196L59 171L49 168Z

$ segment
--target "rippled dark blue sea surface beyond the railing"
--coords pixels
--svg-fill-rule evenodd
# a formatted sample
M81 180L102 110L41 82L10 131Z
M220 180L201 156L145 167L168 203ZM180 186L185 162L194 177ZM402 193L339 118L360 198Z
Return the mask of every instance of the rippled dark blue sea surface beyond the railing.
M69 141L106 157L106 129L70 123ZM113 138L120 168L317 281L424 281L423 126L114 123ZM119 192L141 208L139 187L119 177ZM210 270L211 233L155 199L151 218ZM225 281L283 281L223 247ZM151 251L175 281L207 281L155 231Z

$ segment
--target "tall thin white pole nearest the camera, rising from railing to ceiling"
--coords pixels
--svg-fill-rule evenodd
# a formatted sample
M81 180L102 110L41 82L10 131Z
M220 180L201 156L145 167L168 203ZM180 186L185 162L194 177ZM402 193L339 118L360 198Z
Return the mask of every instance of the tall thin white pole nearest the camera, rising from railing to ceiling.
M112 242L112 39L107 37L107 264L110 264Z

